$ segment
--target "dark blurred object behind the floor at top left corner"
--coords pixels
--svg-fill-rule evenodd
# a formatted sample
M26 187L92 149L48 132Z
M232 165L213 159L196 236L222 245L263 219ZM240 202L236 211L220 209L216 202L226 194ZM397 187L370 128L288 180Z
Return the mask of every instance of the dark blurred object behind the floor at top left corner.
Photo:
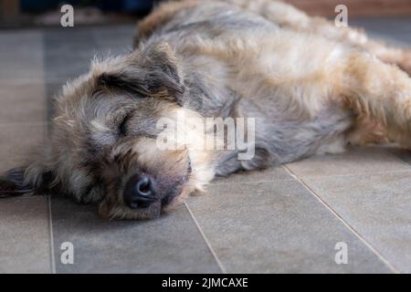
M59 26L64 4L73 5L75 26L109 25L135 22L152 10L154 0L0 0L0 27Z

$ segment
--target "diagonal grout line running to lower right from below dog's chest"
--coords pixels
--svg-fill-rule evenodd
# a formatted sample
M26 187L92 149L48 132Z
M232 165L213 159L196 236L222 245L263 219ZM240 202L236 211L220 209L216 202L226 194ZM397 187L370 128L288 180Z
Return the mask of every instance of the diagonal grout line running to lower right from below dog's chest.
M391 264L385 257L377 250L374 248L373 245L369 244L362 235L360 235L351 224L348 224L345 220L342 219L342 216L335 212L332 207L328 204L325 203L324 200L321 199L320 195L315 193L314 190L311 189L311 187L305 183L299 176L294 174L294 172L291 172L290 169L286 165L282 165L282 167L290 173L292 177L296 179L307 191L309 191L320 203L322 203L338 220L342 222L352 233L353 235L356 235L361 242L363 242L364 245L366 245L372 252L374 252L375 255L378 256L378 258L386 265L388 266L395 274L401 274L401 272L393 265Z

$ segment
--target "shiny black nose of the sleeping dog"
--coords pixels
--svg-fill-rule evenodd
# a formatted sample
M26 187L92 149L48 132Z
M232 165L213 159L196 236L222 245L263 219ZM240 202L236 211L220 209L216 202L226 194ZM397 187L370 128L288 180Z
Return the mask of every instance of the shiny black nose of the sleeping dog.
M123 200L132 209L149 207L155 202L153 180L145 174L132 176L125 186Z

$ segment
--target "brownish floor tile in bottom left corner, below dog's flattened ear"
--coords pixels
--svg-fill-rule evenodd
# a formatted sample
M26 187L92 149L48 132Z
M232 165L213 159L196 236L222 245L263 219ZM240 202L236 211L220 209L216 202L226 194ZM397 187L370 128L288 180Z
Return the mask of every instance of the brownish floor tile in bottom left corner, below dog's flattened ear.
M51 273L47 197L0 200L0 273Z

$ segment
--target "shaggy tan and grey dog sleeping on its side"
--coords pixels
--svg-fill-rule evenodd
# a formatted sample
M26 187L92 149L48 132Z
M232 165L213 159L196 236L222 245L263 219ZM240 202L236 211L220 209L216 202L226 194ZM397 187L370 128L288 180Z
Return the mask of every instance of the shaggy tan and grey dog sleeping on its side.
M0 195L61 193L105 218L151 219L216 175L348 143L409 148L407 72L408 51L281 2L165 3L139 24L131 54L96 59L63 88L49 141L5 173ZM247 149L227 147L229 133L223 148L197 147L216 138L209 118L234 121L253 155L240 159Z

